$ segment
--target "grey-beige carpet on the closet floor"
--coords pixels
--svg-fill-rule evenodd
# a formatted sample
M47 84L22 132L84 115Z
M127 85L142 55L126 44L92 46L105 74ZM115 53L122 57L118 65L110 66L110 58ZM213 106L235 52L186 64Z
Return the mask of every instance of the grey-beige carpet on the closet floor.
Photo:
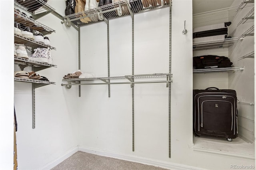
M144 165L85 152L76 152L52 170L166 170L156 166Z

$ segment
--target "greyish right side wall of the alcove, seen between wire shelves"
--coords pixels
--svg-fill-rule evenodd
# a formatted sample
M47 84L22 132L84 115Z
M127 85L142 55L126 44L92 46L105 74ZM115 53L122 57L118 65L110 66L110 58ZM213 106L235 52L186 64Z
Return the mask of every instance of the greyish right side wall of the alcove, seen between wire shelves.
M241 2L242 0L236 0L232 6L239 5ZM254 22L248 22L236 26L253 7L250 6L238 10L238 14L234 18L229 30L232 37L241 36L254 25ZM229 58L235 67L245 67L243 71L230 73L228 79L229 88L236 90L238 100L245 103L254 103L254 59L245 58L239 61L237 59L252 51L254 51L254 36L248 36L239 40L228 51Z

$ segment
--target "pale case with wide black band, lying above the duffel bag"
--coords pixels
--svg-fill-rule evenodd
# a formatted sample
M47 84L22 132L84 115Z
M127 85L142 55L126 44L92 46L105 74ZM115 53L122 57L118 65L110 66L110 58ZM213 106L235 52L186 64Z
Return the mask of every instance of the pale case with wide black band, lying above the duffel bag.
M193 42L203 42L210 40L221 40L228 38L228 26L231 22L202 26L193 29Z

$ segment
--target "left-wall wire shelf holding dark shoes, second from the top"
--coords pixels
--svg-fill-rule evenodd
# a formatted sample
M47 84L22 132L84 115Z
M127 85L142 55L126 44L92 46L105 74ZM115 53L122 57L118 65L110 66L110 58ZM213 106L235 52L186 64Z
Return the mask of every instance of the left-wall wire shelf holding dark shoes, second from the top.
M29 27L32 30L38 31L44 35L55 32L55 30L53 30L52 28L49 28L48 26L45 26L44 24L37 22L36 20L26 16L25 14L22 14L21 12L15 9L14 9L14 22L23 24L24 26Z

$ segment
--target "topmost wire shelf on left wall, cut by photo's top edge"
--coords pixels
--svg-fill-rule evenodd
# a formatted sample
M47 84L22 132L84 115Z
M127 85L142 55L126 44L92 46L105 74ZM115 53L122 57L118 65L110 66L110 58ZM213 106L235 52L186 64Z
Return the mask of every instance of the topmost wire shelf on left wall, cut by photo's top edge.
M44 0L14 0L14 6L33 15L55 11L55 9Z

